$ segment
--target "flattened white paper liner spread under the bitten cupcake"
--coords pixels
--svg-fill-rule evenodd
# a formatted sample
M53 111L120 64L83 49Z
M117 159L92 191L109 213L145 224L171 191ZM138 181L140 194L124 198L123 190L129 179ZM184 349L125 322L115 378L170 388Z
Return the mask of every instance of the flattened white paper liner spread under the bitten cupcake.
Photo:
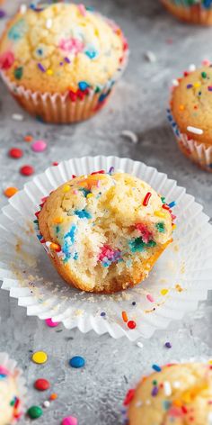
M73 174L86 175L111 166L144 179L167 203L174 200L177 229L172 244L141 285L119 294L86 294L57 275L35 235L34 213L40 199ZM155 330L197 309L212 289L212 227L201 205L165 174L128 158L74 158L49 167L9 200L0 215L0 229L2 287L27 307L28 315L62 321L67 329L109 332L113 338L125 335L130 340L150 338ZM154 302L146 298L148 294ZM128 320L137 322L135 330L129 330L122 320L123 311Z

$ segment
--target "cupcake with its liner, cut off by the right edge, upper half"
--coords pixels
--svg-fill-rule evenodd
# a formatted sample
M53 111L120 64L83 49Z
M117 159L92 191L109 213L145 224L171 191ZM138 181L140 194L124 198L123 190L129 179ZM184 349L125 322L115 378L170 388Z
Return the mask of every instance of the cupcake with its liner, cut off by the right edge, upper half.
M168 120L178 145L186 157L211 172L212 68L185 72L173 84Z

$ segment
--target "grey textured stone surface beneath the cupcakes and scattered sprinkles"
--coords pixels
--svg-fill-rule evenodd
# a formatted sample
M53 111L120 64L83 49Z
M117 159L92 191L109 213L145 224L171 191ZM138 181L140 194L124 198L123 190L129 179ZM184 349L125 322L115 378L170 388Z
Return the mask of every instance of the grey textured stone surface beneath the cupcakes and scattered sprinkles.
M7 0L5 9L13 14L18 0ZM53 126L35 122L14 103L0 83L0 170L1 189L9 185L22 188L27 180L19 175L23 163L34 165L36 173L60 161L84 155L119 155L143 160L177 179L202 203L205 212L212 215L212 175L192 165L177 149L166 118L169 86L173 77L181 75L190 63L212 59L212 29L187 26L166 14L157 0L85 1L114 18L125 30L131 57L128 70L119 83L110 104L93 120L73 126ZM0 28L4 20L0 20ZM172 43L170 43L172 39ZM144 58L152 50L156 62ZM23 122L14 122L12 113L22 113ZM120 132L135 131L137 145L123 140ZM22 142L31 133L35 138L48 140L45 154L35 154ZM24 158L7 158L10 147L25 149ZM0 203L6 203L0 195ZM211 296L210 296L211 300ZM119 410L124 394L141 373L152 363L171 359L209 356L212 348L212 303L202 303L199 311L174 323L172 328L158 332L146 340L144 348L127 339L114 340L108 335L86 335L79 330L63 327L49 329L42 321L26 317L22 307L0 292L0 350L6 350L18 360L25 371L29 385L29 406L46 399L36 393L35 378L47 377L52 390L58 393L57 402L36 423L58 425L67 414L75 415L79 425L119 425ZM166 340L172 349L163 348ZM31 350L44 349L49 354L45 366L31 363ZM67 365L73 355L86 358L83 370ZM29 420L22 420L29 423ZM151 425L151 424L150 424Z

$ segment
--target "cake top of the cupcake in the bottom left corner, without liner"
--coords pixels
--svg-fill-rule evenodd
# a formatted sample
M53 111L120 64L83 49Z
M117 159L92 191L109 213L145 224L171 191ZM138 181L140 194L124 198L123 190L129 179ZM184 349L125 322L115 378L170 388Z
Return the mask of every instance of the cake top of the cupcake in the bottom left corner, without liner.
M20 418L20 399L15 377L0 365L0 425Z

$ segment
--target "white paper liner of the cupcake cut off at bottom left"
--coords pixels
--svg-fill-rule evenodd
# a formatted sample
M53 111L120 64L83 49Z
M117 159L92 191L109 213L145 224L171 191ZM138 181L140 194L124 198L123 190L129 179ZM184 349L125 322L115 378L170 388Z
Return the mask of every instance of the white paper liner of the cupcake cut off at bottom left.
M15 360L12 360L7 353L0 352L0 365L4 366L11 375L14 376L17 389L18 389L18 395L20 398L20 404L19 404L19 411L21 414L25 411L25 404L26 404L26 394L27 394L27 388L26 388L26 380L23 377L22 369L17 367L17 362ZM13 420L12 422L17 423L17 420Z

